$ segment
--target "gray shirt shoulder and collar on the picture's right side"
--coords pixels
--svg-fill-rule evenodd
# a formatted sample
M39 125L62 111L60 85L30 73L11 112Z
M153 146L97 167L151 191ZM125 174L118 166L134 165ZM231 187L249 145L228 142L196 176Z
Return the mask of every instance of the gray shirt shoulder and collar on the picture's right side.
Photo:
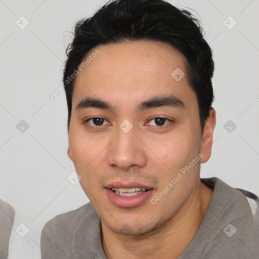
M200 232L205 237L201 257L222 258L224 252L224 258L259 258L258 196L218 178L201 181L214 190Z

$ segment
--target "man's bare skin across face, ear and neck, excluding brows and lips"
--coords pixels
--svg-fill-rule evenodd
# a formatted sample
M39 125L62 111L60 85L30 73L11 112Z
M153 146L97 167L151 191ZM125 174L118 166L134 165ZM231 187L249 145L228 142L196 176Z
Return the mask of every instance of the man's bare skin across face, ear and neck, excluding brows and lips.
M108 259L178 258L196 235L213 190L200 182L200 163L211 154L215 111L210 110L201 132L198 103L187 76L171 73L185 58L164 42L125 42L98 46L100 54L76 76L72 97L68 156L80 184L101 218L102 245ZM86 56L87 56L86 55ZM135 107L154 96L174 94L184 109ZM103 99L115 111L75 110L85 97ZM101 117L102 128L88 118ZM157 124L154 117L174 119ZM133 125L124 133L119 125ZM162 125L162 126L161 126ZM89 126L93 126L92 128ZM197 162L156 204L150 199L133 208L113 205L104 186L136 181L152 186L155 198L178 172L202 153Z

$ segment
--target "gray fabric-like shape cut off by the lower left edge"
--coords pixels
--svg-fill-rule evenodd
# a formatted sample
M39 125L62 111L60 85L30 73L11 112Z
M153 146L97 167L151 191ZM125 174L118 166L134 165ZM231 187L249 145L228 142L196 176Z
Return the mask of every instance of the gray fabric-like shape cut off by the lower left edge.
M14 225L14 208L0 199L0 259L7 259L11 231Z

